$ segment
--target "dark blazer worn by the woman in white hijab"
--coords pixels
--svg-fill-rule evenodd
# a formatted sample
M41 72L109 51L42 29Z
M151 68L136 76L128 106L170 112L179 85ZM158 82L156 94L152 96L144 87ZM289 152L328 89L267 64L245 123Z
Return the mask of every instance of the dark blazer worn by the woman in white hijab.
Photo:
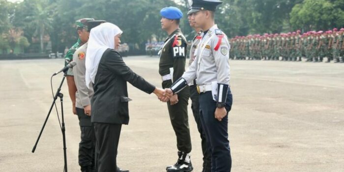
M94 79L91 99L91 121L128 124L129 111L127 82L150 94L155 86L134 73L113 49L107 49L100 59Z

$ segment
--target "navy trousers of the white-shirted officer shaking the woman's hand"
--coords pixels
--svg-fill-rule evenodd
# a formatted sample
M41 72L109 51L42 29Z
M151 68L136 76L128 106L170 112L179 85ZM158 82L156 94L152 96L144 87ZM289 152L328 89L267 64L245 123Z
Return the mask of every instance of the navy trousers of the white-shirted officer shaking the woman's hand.
M232 94L229 90L226 110L229 113L232 105ZM228 140L228 115L222 121L215 118L216 102L211 91L200 94L200 117L207 143L211 149L211 171L230 172L231 156Z

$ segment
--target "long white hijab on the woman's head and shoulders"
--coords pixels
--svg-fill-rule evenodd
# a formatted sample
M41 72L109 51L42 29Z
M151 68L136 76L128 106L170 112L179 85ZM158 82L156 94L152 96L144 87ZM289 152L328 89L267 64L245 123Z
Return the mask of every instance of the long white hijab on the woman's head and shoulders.
M115 36L123 31L112 23L103 23L93 29L89 34L86 51L86 86L94 83L99 61L108 49L115 49Z

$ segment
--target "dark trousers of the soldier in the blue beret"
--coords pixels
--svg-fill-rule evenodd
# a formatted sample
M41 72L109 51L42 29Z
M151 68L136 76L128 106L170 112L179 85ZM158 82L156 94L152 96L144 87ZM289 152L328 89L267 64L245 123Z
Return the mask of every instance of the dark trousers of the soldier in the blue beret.
M177 137L177 148L185 153L190 153L192 149L188 118L189 97L189 90L184 89L178 93L177 104L171 105L170 102L167 102L172 127Z

